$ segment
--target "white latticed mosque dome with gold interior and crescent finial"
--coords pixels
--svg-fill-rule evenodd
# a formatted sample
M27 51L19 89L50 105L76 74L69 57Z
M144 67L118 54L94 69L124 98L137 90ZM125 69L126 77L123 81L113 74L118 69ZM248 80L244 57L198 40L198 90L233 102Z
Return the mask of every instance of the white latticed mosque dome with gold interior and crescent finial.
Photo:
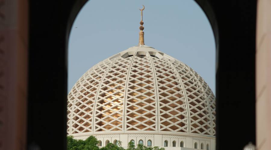
M195 70L144 44L91 67L68 94L67 134L98 146L132 141L166 150L215 150L216 99Z

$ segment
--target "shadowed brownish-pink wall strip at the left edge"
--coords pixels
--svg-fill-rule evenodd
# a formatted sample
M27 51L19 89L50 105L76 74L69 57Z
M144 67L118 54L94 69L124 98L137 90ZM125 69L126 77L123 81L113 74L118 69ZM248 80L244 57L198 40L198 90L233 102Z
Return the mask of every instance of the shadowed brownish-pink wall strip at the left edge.
M27 4L0 0L0 150L26 148Z

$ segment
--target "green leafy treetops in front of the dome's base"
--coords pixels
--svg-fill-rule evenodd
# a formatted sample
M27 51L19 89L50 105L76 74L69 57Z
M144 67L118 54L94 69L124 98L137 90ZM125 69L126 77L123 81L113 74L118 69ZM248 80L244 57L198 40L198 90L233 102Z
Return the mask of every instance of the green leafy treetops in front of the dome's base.
M68 150L125 150L121 146L121 141L118 141L118 145L113 143L108 143L105 147L98 147L98 140L90 136L86 140L76 140L72 136L67 136L67 149ZM143 144L138 144L137 147L131 141L128 143L126 150L165 150L164 148L159 148L158 146L147 147Z

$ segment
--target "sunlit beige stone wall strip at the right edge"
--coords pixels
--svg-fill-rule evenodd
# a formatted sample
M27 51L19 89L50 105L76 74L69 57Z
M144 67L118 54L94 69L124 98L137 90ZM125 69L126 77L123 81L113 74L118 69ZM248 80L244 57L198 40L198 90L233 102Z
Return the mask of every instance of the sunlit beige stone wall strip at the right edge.
M256 144L266 150L271 148L271 0L258 0L256 28Z

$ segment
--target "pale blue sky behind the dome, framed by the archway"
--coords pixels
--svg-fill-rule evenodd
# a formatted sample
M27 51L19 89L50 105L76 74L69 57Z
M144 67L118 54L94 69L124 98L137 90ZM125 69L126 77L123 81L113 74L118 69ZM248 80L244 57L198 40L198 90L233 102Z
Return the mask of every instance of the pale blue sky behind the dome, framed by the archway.
M90 0L78 13L68 44L68 89L100 61L138 45L142 4L145 45L195 70L215 93L215 40L193 0Z

